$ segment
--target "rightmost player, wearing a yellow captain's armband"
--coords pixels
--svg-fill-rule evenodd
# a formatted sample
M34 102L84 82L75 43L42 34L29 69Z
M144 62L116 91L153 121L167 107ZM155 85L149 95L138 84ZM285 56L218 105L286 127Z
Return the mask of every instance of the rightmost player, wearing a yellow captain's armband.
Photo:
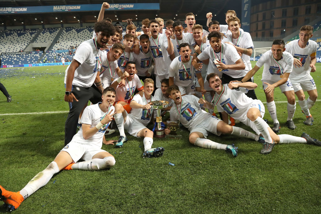
M313 27L304 25L299 32L299 39L289 42L285 45L285 49L293 58L293 71L290 73L290 80L294 89L294 93L299 99L299 105L306 115L304 124L312 125L313 117L309 109L317 100L317 87L310 72L316 72L316 52L317 43L309 40L313 36ZM305 100L303 91L308 92L308 99Z

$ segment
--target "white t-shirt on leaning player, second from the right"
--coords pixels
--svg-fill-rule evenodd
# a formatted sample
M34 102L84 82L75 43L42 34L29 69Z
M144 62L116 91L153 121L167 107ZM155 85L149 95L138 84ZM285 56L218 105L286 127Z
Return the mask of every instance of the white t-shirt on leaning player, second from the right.
M263 68L262 80L279 81L282 78L282 73L291 73L293 67L293 56L284 51L282 58L277 61L282 69L280 70L279 65L275 62L271 50L266 51L260 59L256 62L256 66Z

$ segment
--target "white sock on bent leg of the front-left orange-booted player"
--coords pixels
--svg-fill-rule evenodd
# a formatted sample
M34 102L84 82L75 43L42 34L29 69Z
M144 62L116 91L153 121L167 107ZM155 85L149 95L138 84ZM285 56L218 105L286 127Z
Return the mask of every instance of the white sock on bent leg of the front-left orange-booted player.
M83 170L99 170L114 166L116 163L115 158L112 156L101 158L94 158L88 161L82 161L71 165L72 169Z

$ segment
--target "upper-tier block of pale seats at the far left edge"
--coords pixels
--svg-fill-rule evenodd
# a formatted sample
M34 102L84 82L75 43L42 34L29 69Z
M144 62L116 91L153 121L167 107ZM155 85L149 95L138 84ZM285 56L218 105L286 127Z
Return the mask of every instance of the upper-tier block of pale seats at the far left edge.
M0 33L0 52L23 51L37 31L38 29L3 30Z

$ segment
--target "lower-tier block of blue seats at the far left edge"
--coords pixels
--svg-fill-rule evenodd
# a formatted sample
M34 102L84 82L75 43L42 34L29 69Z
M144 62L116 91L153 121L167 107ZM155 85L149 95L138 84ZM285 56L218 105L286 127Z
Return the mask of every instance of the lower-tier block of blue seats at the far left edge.
M3 65L14 65L14 64L34 64L38 61L42 52L29 53L29 54L12 54L12 55L1 55Z

